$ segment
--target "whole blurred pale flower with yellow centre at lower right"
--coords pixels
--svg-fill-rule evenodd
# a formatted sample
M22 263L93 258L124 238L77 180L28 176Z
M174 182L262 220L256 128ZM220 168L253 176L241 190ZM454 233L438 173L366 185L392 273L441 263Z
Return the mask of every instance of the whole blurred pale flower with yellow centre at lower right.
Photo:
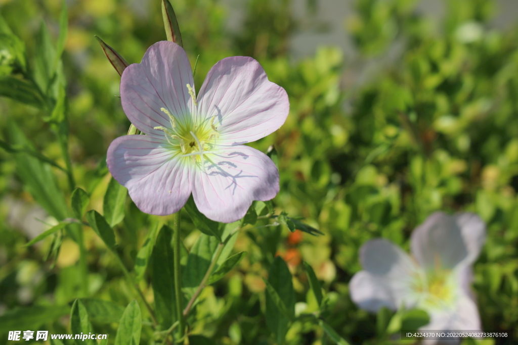
M423 331L478 331L480 316L469 286L471 265L484 242L479 216L436 212L412 233L413 258L386 239L362 246L364 269L351 279L351 298L369 311L401 305L426 310L430 322Z

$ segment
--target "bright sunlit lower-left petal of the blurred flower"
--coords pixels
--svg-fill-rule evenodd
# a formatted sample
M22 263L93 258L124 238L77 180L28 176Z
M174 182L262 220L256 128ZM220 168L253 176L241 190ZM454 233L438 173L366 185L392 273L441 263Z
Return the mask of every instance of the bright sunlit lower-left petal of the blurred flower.
M376 312L381 307L397 309L394 298L383 278L366 271L356 273L349 282L352 301L361 309Z

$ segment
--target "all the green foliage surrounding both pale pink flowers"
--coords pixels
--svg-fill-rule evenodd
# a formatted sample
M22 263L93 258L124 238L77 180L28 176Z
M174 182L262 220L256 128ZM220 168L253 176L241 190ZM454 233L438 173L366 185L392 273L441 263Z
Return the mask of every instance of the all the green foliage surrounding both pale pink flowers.
M178 340L171 217L140 212L106 167L130 128L119 74L177 29L196 85L219 59L245 55L290 97L286 123L250 144L276 163L278 196L231 224L192 198L181 211L189 343L405 343L394 336L428 315L359 310L348 283L362 244L409 250L437 210L486 222L472 284L482 328L518 334L518 31L493 26L496 1L445 1L433 22L415 0L357 0L344 18L355 61L333 46L294 60L290 39L307 23L290 0L243 3L236 34L222 2L162 2L174 15L159 2L2 4L0 344L22 328ZM166 17L177 24L164 33ZM491 341L462 345L518 338Z

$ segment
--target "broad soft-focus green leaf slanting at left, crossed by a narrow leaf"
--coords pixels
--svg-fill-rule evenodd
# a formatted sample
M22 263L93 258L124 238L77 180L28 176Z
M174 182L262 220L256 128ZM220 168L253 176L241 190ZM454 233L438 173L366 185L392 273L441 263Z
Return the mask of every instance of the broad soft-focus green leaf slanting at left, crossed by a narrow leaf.
M1 84L1 82L0 82ZM8 135L11 145L27 147L34 151L31 143L12 120L8 121ZM67 217L67 206L63 192L57 187L50 165L26 153L15 154L18 176L33 198L57 220Z

